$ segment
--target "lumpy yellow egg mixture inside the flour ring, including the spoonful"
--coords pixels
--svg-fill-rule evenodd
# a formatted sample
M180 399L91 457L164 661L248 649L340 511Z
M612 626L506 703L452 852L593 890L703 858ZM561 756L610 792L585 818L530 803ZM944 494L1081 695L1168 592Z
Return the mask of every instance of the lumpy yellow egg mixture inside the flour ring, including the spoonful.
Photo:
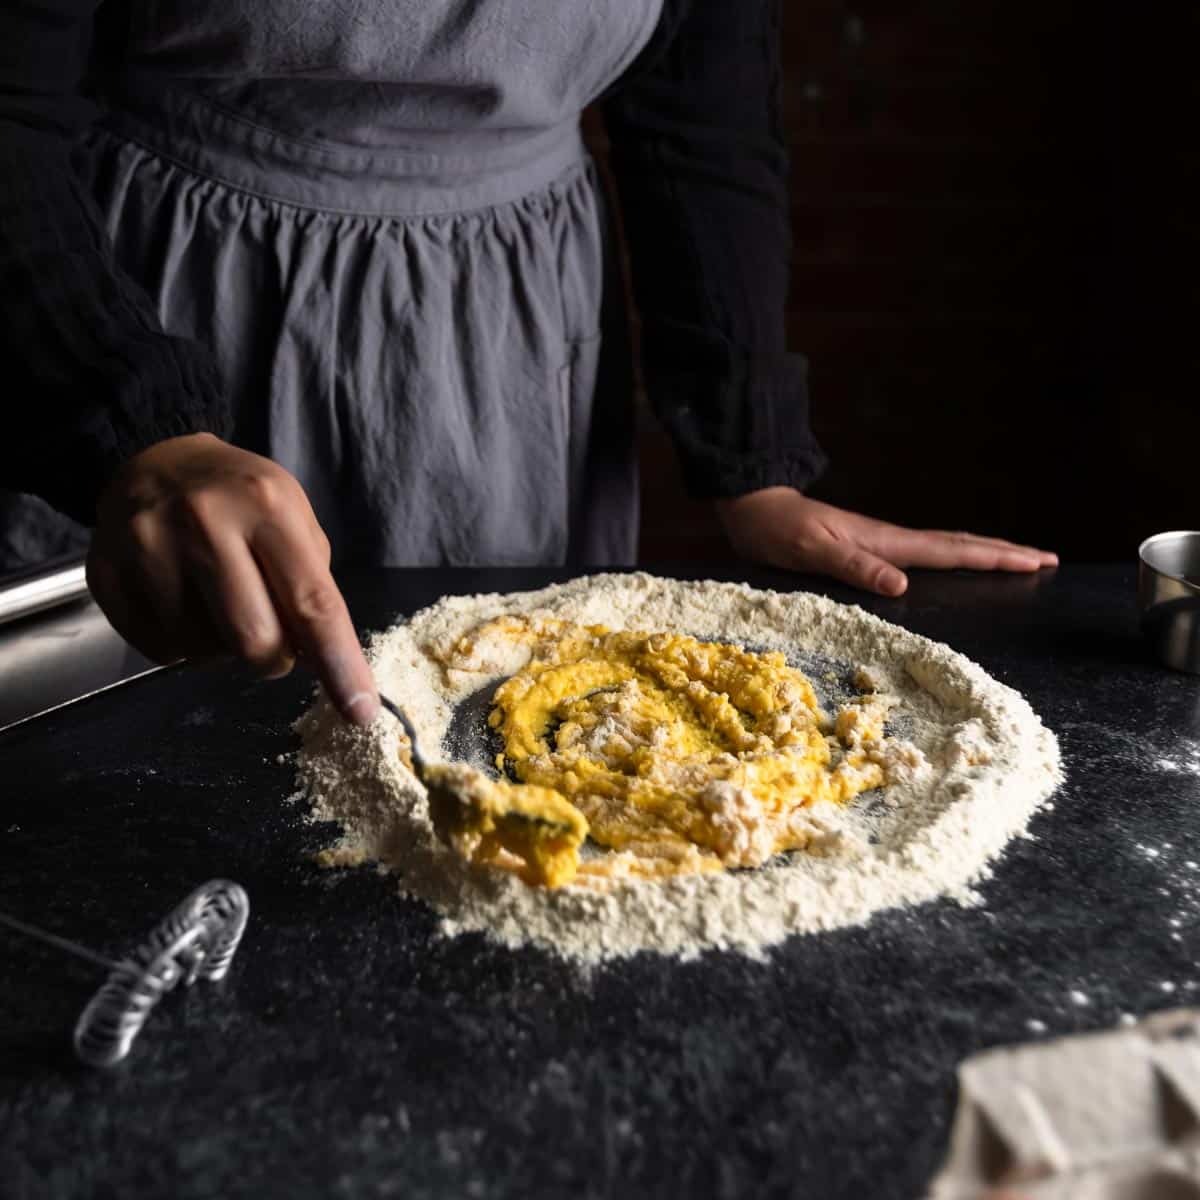
M760 866L820 851L811 808L884 782L887 702L822 713L780 653L680 634L502 617L445 660L476 668L482 643L532 647L496 690L490 780L432 767L431 815L460 853L558 887L577 875L668 875ZM586 839L612 853L580 860Z

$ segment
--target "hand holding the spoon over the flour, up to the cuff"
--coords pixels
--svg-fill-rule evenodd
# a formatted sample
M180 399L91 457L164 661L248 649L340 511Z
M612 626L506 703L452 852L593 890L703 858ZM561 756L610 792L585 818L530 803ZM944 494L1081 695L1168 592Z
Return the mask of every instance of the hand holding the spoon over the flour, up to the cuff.
M299 656L341 714L366 725L379 697L329 560L293 475L192 433L134 455L108 484L88 586L148 658L230 654L277 678Z

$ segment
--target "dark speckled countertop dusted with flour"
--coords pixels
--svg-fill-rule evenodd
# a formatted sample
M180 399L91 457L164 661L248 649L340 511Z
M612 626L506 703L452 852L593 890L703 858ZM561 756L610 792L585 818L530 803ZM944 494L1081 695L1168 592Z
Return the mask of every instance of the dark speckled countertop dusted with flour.
M445 592L565 577L344 584L378 628ZM277 762L305 680L166 671L0 736L0 908L120 954L228 876L251 924L226 983L168 996L108 1073L70 1050L98 973L0 931L0 1195L912 1200L962 1057L1031 1020L1100 1028L1200 992L1200 680L1147 659L1133 568L918 575L894 601L740 577L947 641L1058 734L1068 782L983 907L590 978L442 940L388 880L305 860L322 830Z

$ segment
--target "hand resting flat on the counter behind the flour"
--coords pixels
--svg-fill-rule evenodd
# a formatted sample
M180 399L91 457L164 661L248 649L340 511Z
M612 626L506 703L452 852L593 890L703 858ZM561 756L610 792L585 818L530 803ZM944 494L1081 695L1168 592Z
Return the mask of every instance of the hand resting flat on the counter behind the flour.
M977 571L1037 571L1058 556L998 538L938 529L905 529L810 499L793 487L764 487L718 500L721 524L746 558L898 596L908 587L901 568L966 566Z

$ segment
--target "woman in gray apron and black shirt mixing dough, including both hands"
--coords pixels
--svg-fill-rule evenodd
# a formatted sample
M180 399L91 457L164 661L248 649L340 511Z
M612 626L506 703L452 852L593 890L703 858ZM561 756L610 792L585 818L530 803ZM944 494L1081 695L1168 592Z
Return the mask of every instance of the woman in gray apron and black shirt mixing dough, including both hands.
M632 562L644 366L690 487L767 562L1052 556L800 491L784 346L779 0L24 0L0 17L0 479L94 524L89 582L160 660L305 658L377 696L335 562ZM10 498L49 548L62 517ZM17 514L24 514L18 516ZM35 533L41 530L37 536ZM28 548L28 547L26 547Z

